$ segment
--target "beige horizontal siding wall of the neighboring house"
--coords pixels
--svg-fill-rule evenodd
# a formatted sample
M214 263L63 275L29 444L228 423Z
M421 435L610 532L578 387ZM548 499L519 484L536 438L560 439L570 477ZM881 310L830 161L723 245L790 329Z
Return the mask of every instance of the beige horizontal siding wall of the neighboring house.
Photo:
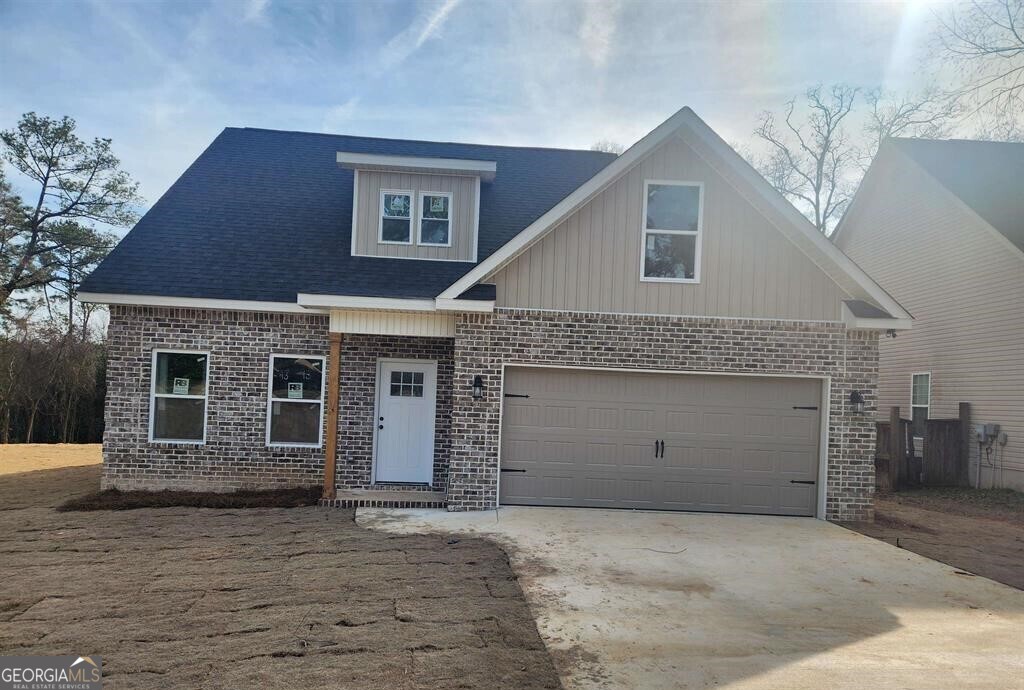
M1024 258L895 152L876 162L837 244L915 319L881 339L879 414L909 417L910 375L931 372L930 415L956 417L966 401L975 423L999 424L1001 482L1024 489Z

